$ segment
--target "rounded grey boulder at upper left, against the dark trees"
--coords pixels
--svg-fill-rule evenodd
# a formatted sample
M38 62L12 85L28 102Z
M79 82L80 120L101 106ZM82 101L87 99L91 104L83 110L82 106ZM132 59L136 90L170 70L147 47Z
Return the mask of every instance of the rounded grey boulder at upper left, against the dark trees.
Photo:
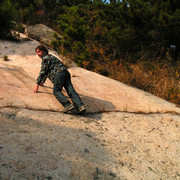
M41 43L50 45L51 41L54 40L53 35L56 33L59 38L62 36L55 32L53 29L47 27L44 24L36 24L33 26L26 26L25 33L28 37L36 39Z

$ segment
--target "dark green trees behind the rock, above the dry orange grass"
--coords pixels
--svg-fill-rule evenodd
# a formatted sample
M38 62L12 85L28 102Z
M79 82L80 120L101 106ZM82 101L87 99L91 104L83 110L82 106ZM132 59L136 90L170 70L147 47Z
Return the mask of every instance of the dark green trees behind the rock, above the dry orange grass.
M134 63L167 53L176 62L179 7L178 0L1 0L0 37L10 35L12 21L43 23L63 35L52 46L89 69L96 61Z

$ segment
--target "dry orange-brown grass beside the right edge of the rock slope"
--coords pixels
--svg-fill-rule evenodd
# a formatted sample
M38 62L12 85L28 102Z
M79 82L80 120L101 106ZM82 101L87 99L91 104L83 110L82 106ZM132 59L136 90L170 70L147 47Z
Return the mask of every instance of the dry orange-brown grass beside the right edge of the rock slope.
M111 61L96 67L108 71L108 77L112 79L180 105L180 65L159 60L135 64Z

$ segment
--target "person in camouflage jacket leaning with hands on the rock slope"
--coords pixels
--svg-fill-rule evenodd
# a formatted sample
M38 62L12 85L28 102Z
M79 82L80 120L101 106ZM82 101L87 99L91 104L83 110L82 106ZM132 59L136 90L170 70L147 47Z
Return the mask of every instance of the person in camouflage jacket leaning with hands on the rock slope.
M37 46L35 51L42 59L42 62L41 70L33 92L37 93L39 85L42 85L46 81L46 78L49 78L54 84L54 96L64 106L62 112L67 113L68 111L72 111L76 108L78 114L84 113L86 111L85 106L75 91L71 82L71 75L64 64L55 56L48 54L47 48L43 45ZM67 91L67 94L71 98L73 104L61 92L63 87Z

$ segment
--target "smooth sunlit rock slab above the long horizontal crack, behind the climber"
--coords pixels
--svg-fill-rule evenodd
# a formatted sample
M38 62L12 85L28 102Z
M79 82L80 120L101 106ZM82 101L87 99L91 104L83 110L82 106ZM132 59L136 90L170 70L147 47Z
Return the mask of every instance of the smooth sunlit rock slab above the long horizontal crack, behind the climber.
M52 94L49 80L39 93L32 90L39 74L41 60L35 54L37 41L0 42L0 107L21 107L61 111L62 106ZM55 52L50 53L58 56ZM2 57L8 55L9 61ZM61 57L59 57L61 58ZM70 67L72 82L88 113L123 111L143 113L180 113L174 104L137 88L78 67ZM63 90L64 93L66 93Z

